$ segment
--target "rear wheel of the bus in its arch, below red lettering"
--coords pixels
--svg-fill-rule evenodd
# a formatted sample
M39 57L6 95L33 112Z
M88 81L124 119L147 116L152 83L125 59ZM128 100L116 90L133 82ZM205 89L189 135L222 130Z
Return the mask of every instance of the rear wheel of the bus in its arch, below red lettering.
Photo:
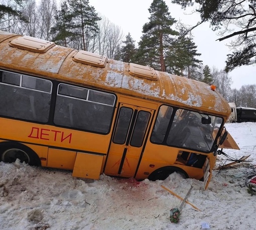
M18 142L0 143L0 161L12 163L18 158L29 165L41 166L39 156L28 146Z

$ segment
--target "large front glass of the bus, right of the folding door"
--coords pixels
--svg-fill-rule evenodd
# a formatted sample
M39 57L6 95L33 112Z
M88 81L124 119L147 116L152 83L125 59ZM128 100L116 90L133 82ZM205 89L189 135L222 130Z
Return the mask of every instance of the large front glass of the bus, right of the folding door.
M211 121L207 124L202 123L203 117L209 117L208 120ZM218 132L222 122L221 117L162 105L151 141L209 152L214 143L215 133Z

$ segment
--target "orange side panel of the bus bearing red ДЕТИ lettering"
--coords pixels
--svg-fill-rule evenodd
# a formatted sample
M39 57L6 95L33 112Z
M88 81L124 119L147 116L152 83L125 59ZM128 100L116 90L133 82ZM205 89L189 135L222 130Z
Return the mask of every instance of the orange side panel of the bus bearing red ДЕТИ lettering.
M0 125L2 127L0 129L0 136L2 139L12 139L20 142L67 149L84 150L84 148L86 148L88 152L103 154L107 153L111 137L110 133L107 135L98 135L92 132L84 132L8 118L1 118Z

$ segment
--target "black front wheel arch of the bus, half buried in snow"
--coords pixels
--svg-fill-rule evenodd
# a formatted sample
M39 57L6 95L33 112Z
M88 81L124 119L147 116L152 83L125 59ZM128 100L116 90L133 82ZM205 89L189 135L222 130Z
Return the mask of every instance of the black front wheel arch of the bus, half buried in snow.
M166 166L166 167L160 167L157 170L153 171L148 179L152 181L156 180L165 180L170 174L173 172L177 172L182 175L183 178L188 178L187 172L185 172L183 169L179 167L174 166Z

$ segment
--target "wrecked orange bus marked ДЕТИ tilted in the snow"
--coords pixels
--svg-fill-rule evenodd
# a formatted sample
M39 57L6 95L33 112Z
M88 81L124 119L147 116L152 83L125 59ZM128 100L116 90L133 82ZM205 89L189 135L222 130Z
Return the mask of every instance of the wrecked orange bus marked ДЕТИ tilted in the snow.
M0 159L100 174L211 179L239 149L231 110L203 82L0 31Z

